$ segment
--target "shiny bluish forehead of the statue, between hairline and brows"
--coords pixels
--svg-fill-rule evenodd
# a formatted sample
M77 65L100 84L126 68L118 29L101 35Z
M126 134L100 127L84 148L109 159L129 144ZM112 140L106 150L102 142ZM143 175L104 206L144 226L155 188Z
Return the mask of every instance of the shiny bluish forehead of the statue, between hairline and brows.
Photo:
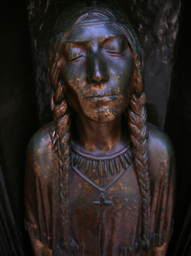
M81 26L72 29L65 41L100 41L115 35L124 36L113 24Z

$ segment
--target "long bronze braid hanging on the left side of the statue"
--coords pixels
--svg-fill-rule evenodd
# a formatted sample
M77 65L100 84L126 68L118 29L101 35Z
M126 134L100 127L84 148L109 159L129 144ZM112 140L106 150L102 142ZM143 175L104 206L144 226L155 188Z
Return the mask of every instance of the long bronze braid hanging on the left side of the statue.
M70 110L66 101L63 87L58 79L59 57L52 68L51 84L51 110L56 125L57 153L59 159L60 175L60 207L63 230L62 248L67 253L78 255L78 246L71 235L70 200L69 200L69 168L70 168Z

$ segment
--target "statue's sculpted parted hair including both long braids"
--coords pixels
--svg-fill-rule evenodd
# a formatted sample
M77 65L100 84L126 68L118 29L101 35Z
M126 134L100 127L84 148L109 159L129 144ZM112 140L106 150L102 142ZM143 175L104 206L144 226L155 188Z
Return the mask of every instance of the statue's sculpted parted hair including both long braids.
M72 237L70 224L71 107L65 97L62 80L59 76L61 48L66 36L75 28L76 24L79 26L83 22L83 18L92 12L99 13L103 19L110 21L111 24L123 32L134 58L134 92L126 113L142 202L142 235L138 241L138 248L140 250L149 250L150 188L147 157L148 130L146 124L147 113L145 108L146 95L144 91L142 52L137 35L134 33L125 14L116 10L116 8L113 9L105 4L95 2L90 5L74 5L62 12L53 28L47 52L48 79L52 87L51 110L55 122L55 130L52 133L52 146L58 154L60 175L60 208L63 230L61 250L78 255L78 245Z

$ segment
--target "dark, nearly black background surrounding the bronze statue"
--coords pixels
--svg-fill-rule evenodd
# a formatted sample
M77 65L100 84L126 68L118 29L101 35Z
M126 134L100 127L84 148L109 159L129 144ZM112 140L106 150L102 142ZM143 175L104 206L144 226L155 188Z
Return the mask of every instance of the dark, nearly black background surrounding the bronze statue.
M168 133L176 151L177 202L168 255L190 256L189 0L120 0L116 5L128 15L144 52L148 121ZM61 0L1 4L1 256L32 255L23 224L25 152L31 135L52 121L50 86L46 81L46 45L55 20L66 6L68 3Z

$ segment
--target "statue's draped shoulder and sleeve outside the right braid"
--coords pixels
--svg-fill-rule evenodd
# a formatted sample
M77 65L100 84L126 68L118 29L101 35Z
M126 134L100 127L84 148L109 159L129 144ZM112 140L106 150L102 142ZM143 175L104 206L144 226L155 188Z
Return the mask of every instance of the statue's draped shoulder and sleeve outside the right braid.
M169 242L172 234L176 176L174 149L168 135L152 124L148 124L148 131L150 230L153 234L153 247L156 247Z

